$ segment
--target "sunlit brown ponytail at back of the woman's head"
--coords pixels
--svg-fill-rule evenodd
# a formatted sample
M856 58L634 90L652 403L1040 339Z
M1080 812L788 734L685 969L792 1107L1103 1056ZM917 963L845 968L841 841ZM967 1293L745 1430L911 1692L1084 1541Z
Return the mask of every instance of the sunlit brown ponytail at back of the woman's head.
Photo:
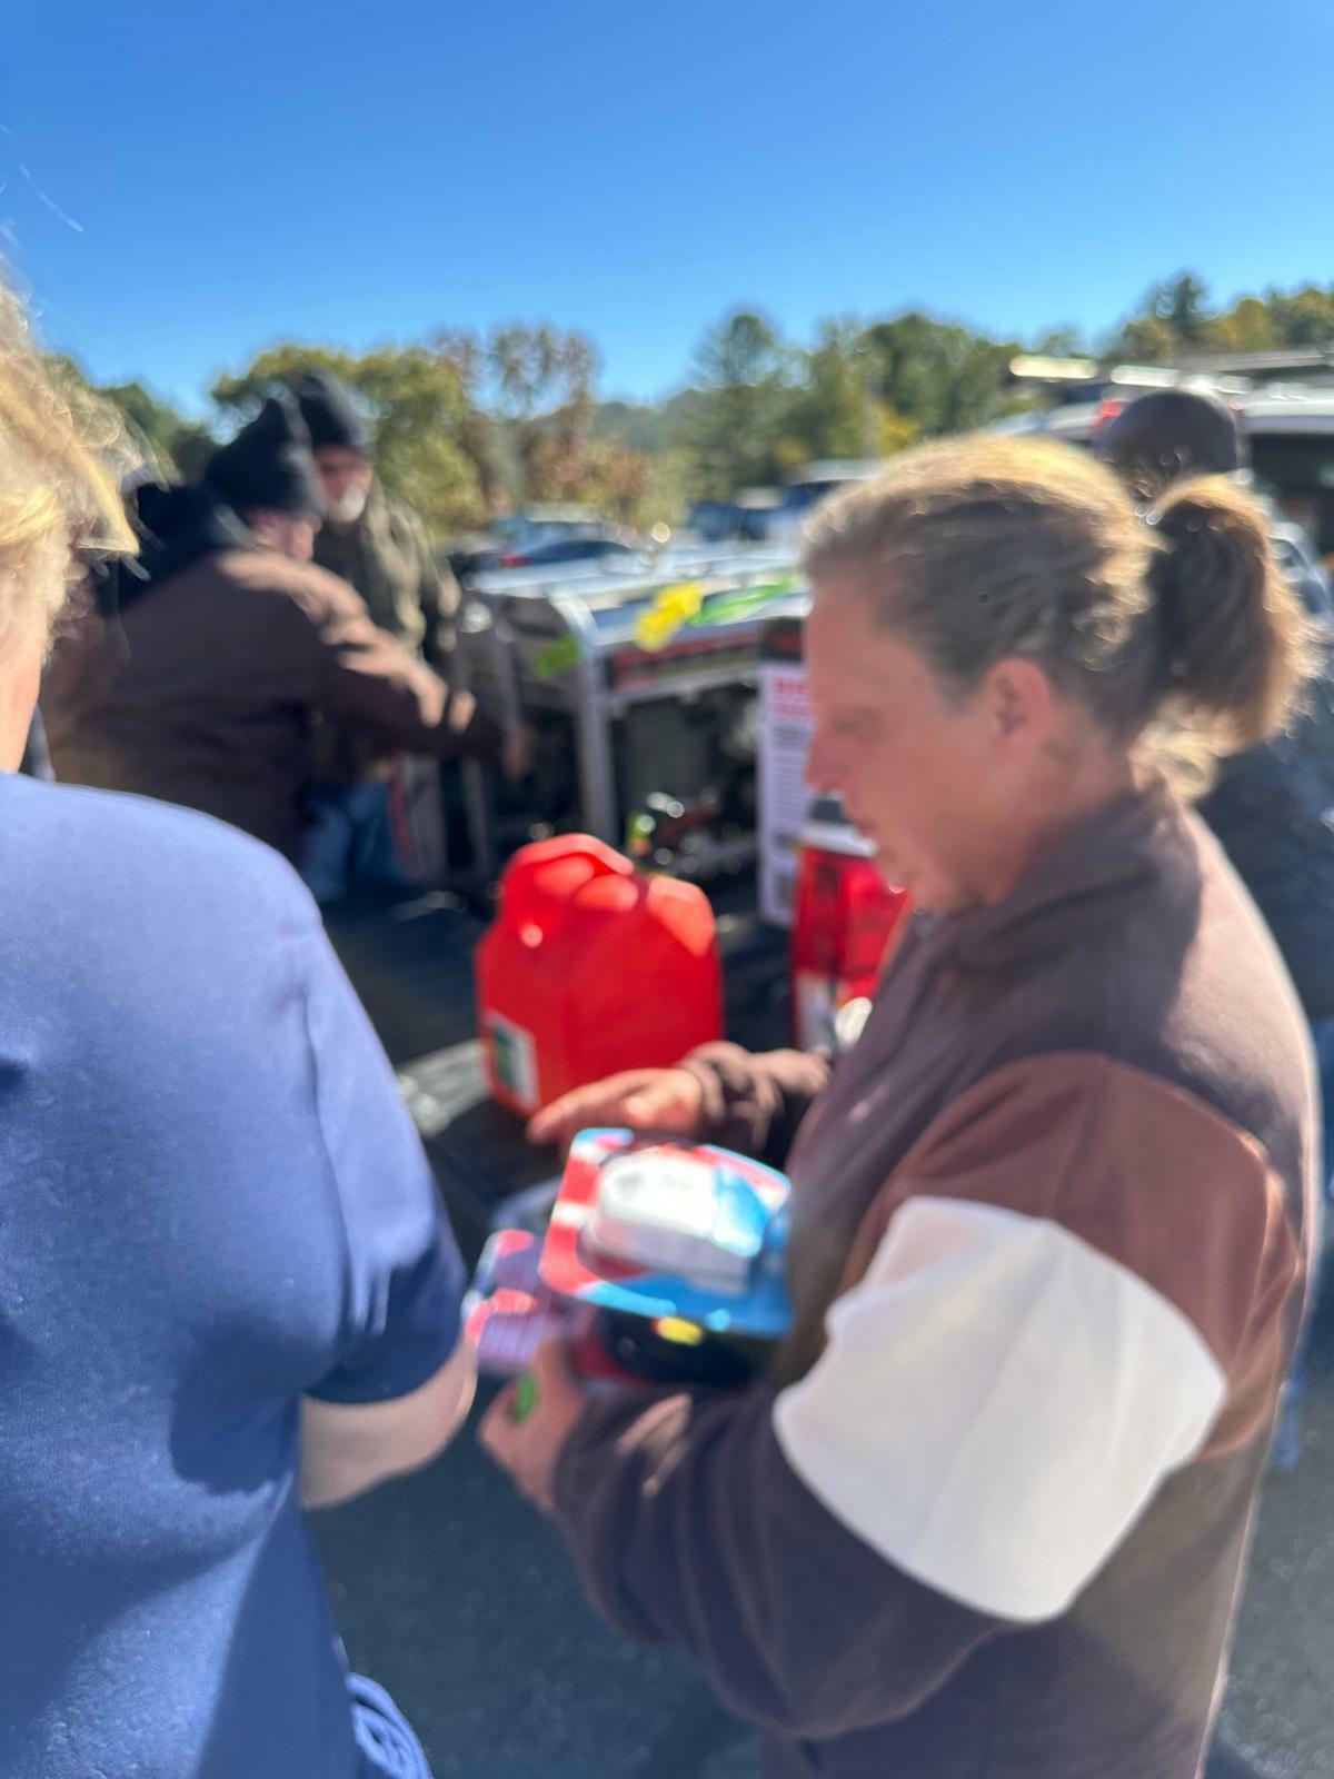
M1263 514L1240 487L1209 477L1183 482L1147 519L1169 701L1222 751L1266 740L1307 676L1311 630Z

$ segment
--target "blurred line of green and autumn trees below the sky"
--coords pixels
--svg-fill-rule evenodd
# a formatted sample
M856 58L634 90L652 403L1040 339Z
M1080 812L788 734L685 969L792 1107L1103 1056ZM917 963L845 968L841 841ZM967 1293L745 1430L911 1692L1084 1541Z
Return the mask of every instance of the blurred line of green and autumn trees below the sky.
M438 537L530 502L578 500L628 525L676 521L692 498L772 486L816 457L880 457L985 425L1017 404L1017 352L1137 363L1185 352L1334 342L1334 285L1265 290L1226 310L1190 272L1156 285L1106 338L1057 327L998 340L909 311L825 320L808 343L738 310L695 349L658 406L598 398L591 340L546 326L439 331L372 352L286 343L221 377L208 423L141 382L105 386L164 471L197 475L217 438L309 366L342 375L377 427L384 482Z

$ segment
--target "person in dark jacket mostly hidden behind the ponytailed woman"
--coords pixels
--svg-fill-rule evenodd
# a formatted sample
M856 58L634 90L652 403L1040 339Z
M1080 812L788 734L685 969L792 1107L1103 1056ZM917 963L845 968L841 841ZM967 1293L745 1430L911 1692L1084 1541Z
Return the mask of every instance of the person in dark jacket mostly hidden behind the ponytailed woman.
M1177 482L1236 475L1245 436L1236 413L1193 390L1161 390L1131 402L1099 434L1097 454L1153 516ZM1218 761L1199 813L1256 900L1288 964L1320 1064L1325 1179L1334 1135L1334 635L1325 624L1329 587L1318 571L1290 575L1316 623L1320 671L1304 710L1274 740ZM1218 623L1229 614L1218 612ZM1288 1384L1274 1462L1300 1455L1298 1402L1304 1368Z

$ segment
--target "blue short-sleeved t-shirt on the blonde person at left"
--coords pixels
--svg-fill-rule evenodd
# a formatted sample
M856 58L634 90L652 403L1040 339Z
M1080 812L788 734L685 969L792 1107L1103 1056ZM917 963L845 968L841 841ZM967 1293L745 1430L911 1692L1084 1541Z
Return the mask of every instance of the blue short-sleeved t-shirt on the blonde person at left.
M462 1267L292 870L0 777L0 1779L350 1779L304 1393L423 1384Z

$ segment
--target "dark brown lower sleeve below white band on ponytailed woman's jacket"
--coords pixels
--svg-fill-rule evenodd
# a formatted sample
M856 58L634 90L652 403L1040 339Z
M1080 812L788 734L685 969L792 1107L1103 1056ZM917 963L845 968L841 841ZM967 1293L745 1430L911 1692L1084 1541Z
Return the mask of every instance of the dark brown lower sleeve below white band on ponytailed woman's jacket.
M672 1642L738 1717L811 1740L905 1715L1003 1626L884 1562L809 1494L772 1391L591 1409L555 1512L624 1635Z

